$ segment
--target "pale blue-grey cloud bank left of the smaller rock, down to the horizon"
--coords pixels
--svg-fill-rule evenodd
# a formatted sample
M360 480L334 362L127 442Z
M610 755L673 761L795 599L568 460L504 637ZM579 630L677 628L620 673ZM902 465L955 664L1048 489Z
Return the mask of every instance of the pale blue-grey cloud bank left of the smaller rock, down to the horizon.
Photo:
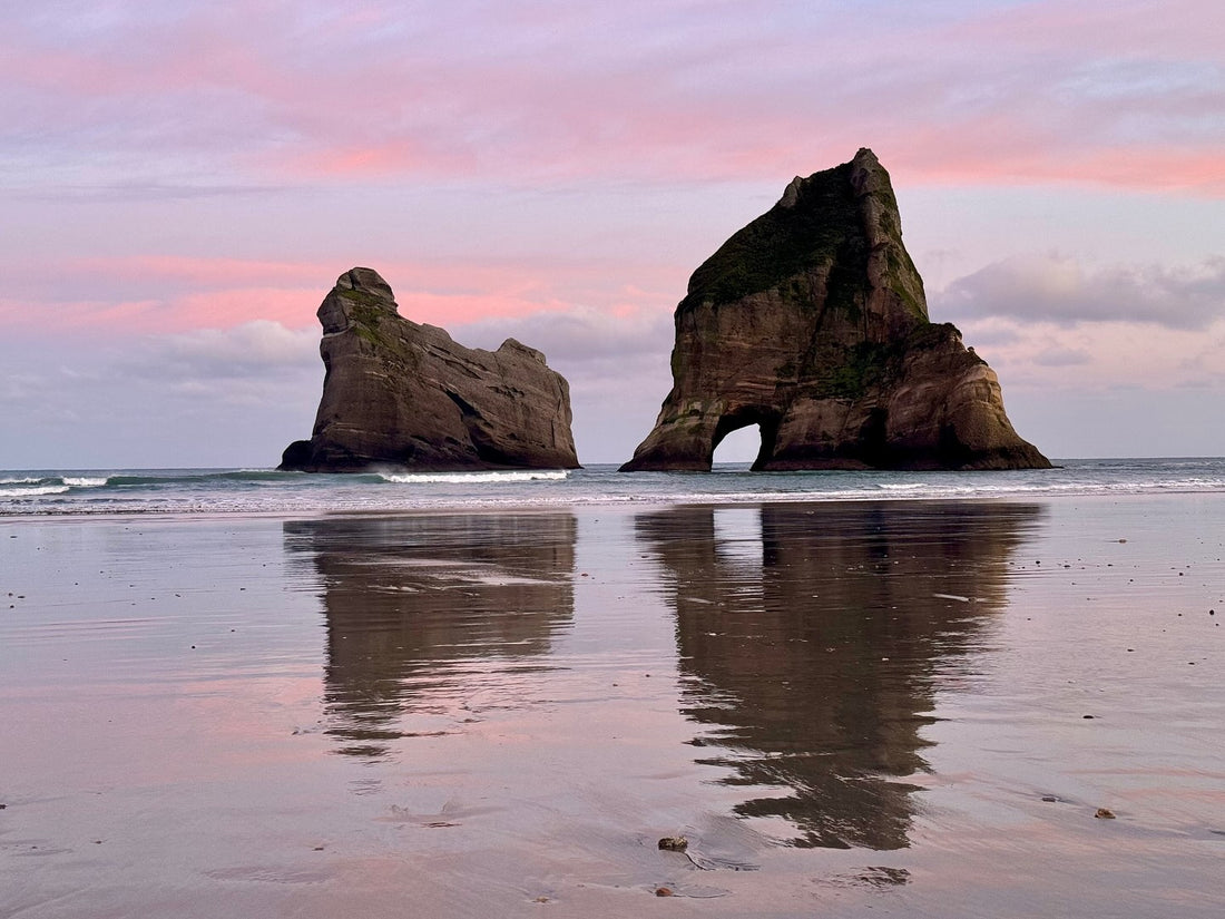
M252 337L0 342L0 467L274 466L310 433L323 368Z

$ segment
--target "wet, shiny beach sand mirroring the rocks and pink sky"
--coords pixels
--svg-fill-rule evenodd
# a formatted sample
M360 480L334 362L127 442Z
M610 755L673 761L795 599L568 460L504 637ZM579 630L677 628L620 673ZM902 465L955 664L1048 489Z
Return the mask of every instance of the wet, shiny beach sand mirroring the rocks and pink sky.
M1223 495L0 521L0 915L1216 917L1223 558Z

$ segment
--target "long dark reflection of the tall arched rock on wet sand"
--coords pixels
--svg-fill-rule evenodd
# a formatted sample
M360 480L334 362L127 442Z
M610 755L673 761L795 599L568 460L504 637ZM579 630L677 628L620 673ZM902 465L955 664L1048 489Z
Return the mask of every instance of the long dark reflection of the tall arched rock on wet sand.
M796 845L908 844L920 730L1006 602L1040 509L920 502L674 507L636 531L676 609L702 761ZM768 789L768 790L767 790Z

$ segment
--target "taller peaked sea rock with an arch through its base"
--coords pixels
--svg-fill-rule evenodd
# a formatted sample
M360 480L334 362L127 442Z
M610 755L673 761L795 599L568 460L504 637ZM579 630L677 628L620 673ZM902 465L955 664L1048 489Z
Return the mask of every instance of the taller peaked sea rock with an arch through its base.
M927 319L870 149L793 180L693 272L675 323L673 390L624 471L709 469L750 424L755 469L1050 467L991 368Z

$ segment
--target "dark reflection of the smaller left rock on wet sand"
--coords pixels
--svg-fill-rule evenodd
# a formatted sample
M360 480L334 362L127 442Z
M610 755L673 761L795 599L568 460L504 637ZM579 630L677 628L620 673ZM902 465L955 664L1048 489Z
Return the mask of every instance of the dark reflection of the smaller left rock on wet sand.
M287 522L288 555L321 588L339 752L445 730L483 668L548 656L573 614L575 533L568 512Z

